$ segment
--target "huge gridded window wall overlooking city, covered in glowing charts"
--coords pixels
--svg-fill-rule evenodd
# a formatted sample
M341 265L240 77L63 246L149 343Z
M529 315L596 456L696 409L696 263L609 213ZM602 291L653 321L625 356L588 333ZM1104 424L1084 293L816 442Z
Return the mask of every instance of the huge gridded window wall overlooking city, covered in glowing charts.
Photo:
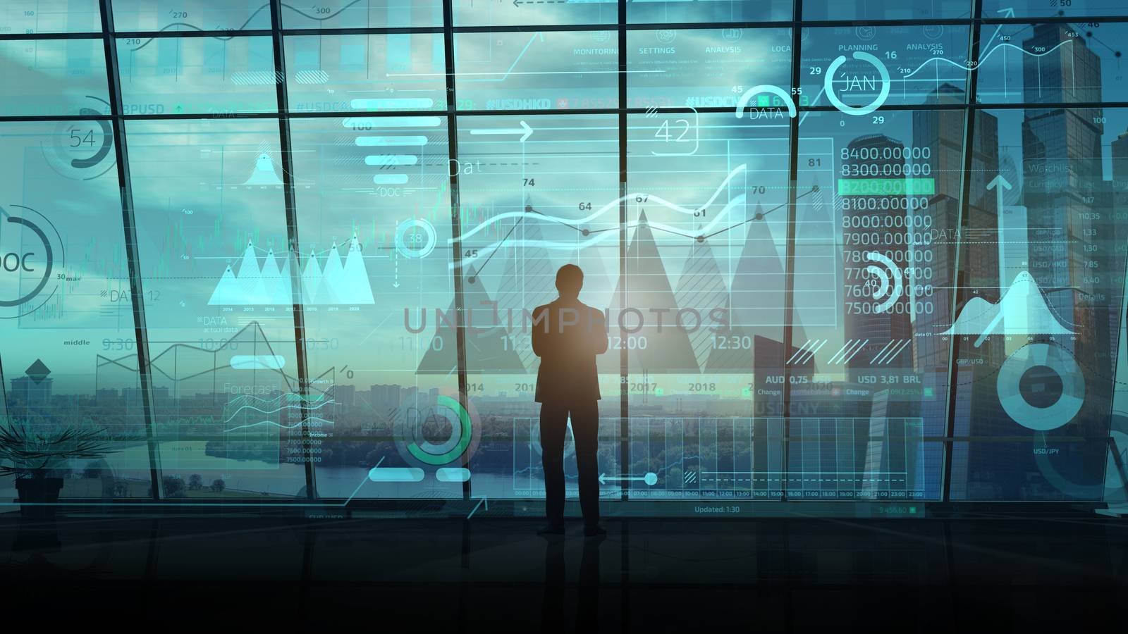
M1110 0L16 2L2 422L99 434L68 497L535 500L530 312L574 263L624 509L1100 501L1126 32Z

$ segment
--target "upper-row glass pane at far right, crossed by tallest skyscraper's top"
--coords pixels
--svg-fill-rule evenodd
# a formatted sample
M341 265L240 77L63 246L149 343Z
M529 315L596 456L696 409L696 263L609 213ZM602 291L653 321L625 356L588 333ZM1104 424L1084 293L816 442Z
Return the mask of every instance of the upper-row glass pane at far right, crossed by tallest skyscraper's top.
M1128 99L1119 47L1128 37L1128 25L992 28L994 36L979 58L980 102L1077 104Z

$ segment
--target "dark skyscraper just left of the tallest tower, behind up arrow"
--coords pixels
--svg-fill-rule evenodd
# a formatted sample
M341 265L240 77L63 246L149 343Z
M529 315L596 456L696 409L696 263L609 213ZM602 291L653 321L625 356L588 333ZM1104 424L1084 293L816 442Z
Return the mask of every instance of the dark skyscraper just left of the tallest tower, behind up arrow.
M964 99L962 89L944 83L928 95L926 103L962 104ZM931 236L931 244L915 241L914 248L932 250L931 283L940 287L920 298L931 302L931 312L917 311L914 316L917 335L914 368L920 375L925 393L932 394L920 398L920 416L929 433L945 433L946 430L952 345L959 345L957 403L971 405L957 407L957 433L976 430L976 433L989 434L984 428L995 424L1001 413L993 384L987 378L1003 362L1005 342L992 337L975 346L960 337L941 335L969 299L980 297L993 303L999 299L999 210L996 193L987 190L987 184L998 175L998 118L981 111L977 111L975 117L971 169L964 174L964 114L942 109L913 113L913 143L920 150L927 148L927 164L936 183L928 204L911 212L922 217L916 224L929 226L926 235ZM968 217L961 223L963 178L969 178L970 183ZM916 284L913 289L918 290ZM957 452L951 482L953 488L962 491L972 460L964 447L951 450ZM941 468L941 458L940 447L926 448L925 460L932 469Z

